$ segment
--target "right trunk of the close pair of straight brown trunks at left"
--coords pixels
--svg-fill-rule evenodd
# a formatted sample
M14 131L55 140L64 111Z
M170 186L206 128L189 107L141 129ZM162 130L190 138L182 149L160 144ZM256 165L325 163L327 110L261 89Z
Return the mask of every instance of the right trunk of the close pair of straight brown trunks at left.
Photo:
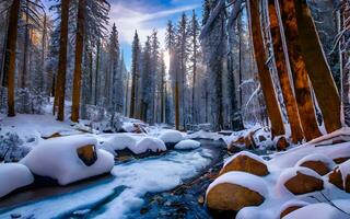
M85 0L79 0L78 4L78 20L77 20L77 37L75 37L75 62L74 62L74 79L73 79L73 96L72 96L72 115L71 120L74 123L79 122L79 110L80 110L80 96L81 96L81 74L82 68L81 62L83 58L83 46L84 46L84 10Z

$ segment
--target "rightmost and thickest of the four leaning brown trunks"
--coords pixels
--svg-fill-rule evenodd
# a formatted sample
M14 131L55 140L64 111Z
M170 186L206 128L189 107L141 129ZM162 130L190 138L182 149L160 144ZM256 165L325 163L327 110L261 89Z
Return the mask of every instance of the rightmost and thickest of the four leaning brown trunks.
M340 97L305 0L294 0L301 51L327 132L341 128Z

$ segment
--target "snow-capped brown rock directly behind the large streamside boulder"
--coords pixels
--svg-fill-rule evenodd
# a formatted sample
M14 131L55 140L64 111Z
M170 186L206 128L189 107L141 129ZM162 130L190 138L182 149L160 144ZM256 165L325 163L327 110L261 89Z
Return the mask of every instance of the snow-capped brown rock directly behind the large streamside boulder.
M220 175L230 171L242 171L258 176L269 174L268 168L262 158L246 151L242 151L229 158L221 169Z

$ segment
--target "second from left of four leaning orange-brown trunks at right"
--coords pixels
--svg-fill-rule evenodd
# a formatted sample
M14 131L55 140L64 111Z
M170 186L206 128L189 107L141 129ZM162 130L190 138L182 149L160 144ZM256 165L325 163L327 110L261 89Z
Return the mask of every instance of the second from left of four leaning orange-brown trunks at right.
M291 125L292 140L294 143L303 140L303 130L299 117L298 104L289 80L288 64L279 27L279 20L276 12L275 0L269 0L270 31L273 44L273 55L277 73L280 80L281 91L284 99L287 115Z

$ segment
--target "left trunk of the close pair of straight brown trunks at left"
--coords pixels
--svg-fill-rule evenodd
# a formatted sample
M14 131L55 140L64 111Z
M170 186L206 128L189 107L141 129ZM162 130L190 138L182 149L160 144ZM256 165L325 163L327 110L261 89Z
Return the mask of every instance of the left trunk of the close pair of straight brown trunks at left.
M55 96L55 99L58 99L57 119L61 122L65 120L68 19L69 19L69 0L61 0L61 27L60 27L60 41L59 41L58 72L57 72L57 92Z

